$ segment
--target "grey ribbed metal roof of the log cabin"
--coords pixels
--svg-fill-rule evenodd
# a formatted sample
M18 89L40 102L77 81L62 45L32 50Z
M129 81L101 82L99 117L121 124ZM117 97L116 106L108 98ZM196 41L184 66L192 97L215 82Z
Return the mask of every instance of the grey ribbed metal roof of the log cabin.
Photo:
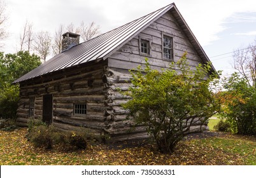
M117 51L118 48L127 43L130 39L134 38L134 36L139 34L139 32L143 31L146 27L148 27L148 25L152 24L155 20L157 20L157 18L164 15L164 13L171 9L178 13L178 18L180 17L179 20L181 25L188 30L188 32L185 31L185 33L187 33L188 36L192 36L190 40L195 41L199 52L201 52L201 54L204 56L204 60L210 61L204 51L202 53L203 48L201 48L200 44L197 42L196 38L185 23L185 20L183 20L180 13L176 9L175 4L173 3L145 15L144 17L129 22L128 24L122 25L117 29L113 29L112 31L101 34L96 38L90 39L89 41L77 44L69 50L50 58L50 60L47 60L45 63L25 74L13 83L19 83L27 79L36 78L50 72L59 71L61 69L73 67L92 60L105 60L106 58L110 57L111 54Z

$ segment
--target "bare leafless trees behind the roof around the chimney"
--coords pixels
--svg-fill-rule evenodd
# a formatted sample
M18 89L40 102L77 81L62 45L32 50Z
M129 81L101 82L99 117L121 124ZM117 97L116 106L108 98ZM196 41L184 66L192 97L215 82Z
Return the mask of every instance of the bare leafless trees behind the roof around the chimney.
M59 28L55 31L53 35L48 31L35 32L33 30L33 25L31 22L26 21L23 27L23 31L20 34L20 51L34 52L41 58L42 62L45 62L48 55L57 55L61 52L61 41L62 34L65 32L73 32L80 34L82 41L87 41L100 34L99 25L95 22L90 24L85 24L81 22L79 27L75 27L73 23L67 25L60 24Z

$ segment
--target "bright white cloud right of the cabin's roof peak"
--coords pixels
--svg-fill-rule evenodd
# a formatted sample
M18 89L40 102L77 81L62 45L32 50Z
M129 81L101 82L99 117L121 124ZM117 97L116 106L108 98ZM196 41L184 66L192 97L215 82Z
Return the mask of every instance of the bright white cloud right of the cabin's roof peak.
M201 45L219 39L227 26L225 20L238 12L256 11L256 1L215 0L177 1L176 5Z

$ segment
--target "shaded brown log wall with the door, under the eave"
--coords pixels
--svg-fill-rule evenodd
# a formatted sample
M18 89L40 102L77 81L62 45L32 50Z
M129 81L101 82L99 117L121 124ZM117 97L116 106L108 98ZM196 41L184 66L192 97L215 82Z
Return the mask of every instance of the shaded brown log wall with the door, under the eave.
M34 97L34 118L42 118L43 95L53 95L53 125L63 130L88 127L101 130L105 124L105 86L103 82L106 61L75 67L55 74L20 83L20 103L17 123L26 126L29 121L29 98ZM73 104L87 104L85 116L74 116Z

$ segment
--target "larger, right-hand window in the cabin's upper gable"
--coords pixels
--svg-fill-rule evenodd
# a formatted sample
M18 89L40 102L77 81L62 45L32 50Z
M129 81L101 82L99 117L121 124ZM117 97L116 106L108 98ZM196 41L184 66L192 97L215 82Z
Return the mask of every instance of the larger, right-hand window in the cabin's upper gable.
M162 43L163 58L173 60L173 38L163 35Z

